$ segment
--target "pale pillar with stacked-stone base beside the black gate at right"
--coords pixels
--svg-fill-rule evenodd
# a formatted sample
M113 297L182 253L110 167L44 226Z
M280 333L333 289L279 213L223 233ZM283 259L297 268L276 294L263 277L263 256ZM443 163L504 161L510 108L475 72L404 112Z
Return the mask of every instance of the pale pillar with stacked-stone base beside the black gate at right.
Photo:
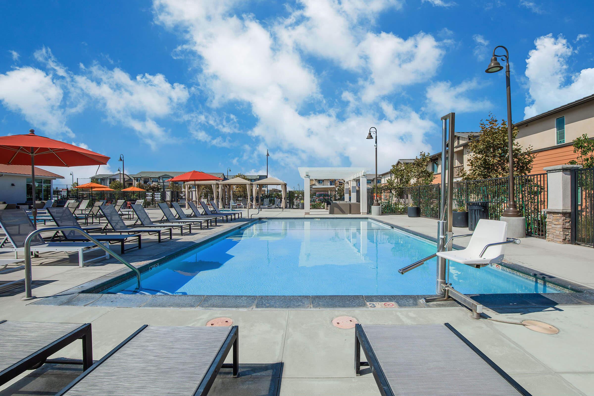
M571 242L571 170L582 165L556 165L545 167L546 240L555 243Z

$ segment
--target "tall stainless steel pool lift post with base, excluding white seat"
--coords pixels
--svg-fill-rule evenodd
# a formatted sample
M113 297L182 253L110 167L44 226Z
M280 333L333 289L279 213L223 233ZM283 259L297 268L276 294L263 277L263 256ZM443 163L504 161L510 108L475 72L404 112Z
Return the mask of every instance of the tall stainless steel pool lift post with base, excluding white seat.
M450 125L448 128L448 120ZM440 202L440 220L437 221L437 251L445 252L451 250L451 241L455 237L463 237L468 235L453 236L451 230L451 220L453 212L453 198L454 198L454 131L455 131L456 113L449 113L441 118L441 202ZM448 130L449 129L449 130ZM450 150L448 150L448 147ZM447 159L446 159L447 156ZM445 164L447 164L447 179L445 173ZM450 188L447 188L450 186ZM420 267L437 254L425 257L419 261L413 262L405 268L398 270L400 274L405 274L416 267ZM466 294L458 292L451 287L447 281L447 260L442 257L437 257L437 276L435 279L435 294L437 297L425 297L425 302L456 300L460 304L472 310L472 317L475 319L481 318L483 306L466 296Z

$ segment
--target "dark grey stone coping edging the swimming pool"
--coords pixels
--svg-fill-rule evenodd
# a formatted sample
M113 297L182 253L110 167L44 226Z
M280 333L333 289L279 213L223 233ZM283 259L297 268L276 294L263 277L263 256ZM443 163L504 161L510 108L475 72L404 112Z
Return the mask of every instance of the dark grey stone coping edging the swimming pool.
M258 217L238 223L233 227L217 231L211 235L195 240L191 246L185 246L136 266L141 273L146 273L173 258L184 255L214 239L229 235L237 230L251 226L260 220L304 220L304 217ZM316 217L312 217L314 219ZM341 217L339 217L341 218ZM437 238L386 221L371 217L344 217L347 220L372 220L391 229L400 230L437 243ZM464 246L454 245L457 249ZM536 309L557 305L594 305L594 289L545 273L535 272L521 264L505 261L501 264L505 270L514 272L541 283L551 283L570 293L497 293L467 294L485 306ZM222 296L194 294L106 294L105 290L122 283L134 274L128 268L121 268L113 273L103 275L94 280L72 287L65 292L45 297L32 302L33 305L60 306L112 306L118 308L195 308L195 309L339 309L339 308L437 308L459 306L455 301L425 303L424 297L432 294L397 294L397 295L340 295L340 296ZM571 293L573 292L573 293ZM392 303L388 305L377 303ZM376 303L375 306L370 303Z

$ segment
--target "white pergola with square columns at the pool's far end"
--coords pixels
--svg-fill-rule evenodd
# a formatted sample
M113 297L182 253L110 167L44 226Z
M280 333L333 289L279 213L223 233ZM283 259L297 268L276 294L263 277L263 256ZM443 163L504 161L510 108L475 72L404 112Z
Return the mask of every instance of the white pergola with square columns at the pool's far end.
M361 214L367 213L367 178L366 170L364 168L356 167L299 167L299 176L303 178L304 185L304 208L305 214L309 214L311 208L309 202L309 185L312 179L343 179L345 183L349 184L349 188L345 185L345 201L351 201L356 197L357 183L356 180L361 180Z

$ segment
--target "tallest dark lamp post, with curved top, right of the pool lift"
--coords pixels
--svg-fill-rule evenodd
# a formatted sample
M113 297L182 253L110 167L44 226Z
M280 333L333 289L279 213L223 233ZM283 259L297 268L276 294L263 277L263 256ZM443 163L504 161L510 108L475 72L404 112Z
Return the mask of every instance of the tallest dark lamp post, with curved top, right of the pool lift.
M495 50L503 48L505 55L495 55ZM507 88L507 150L509 158L509 197L507 199L507 208L501 216L503 217L522 217L522 213L516 207L516 194L514 194L514 141L513 125L511 125L511 90L510 90L510 54L504 46L497 46L493 50L491 63L487 66L486 73L496 73L503 69L503 66L497 61L497 57L505 61L505 86Z

